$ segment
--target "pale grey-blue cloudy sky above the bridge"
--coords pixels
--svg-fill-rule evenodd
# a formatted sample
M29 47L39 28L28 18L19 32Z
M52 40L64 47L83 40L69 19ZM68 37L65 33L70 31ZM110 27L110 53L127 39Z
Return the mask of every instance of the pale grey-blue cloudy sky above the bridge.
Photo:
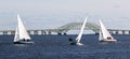
M130 0L0 0L0 29L15 29L20 14L27 29L57 28L83 21L130 29Z

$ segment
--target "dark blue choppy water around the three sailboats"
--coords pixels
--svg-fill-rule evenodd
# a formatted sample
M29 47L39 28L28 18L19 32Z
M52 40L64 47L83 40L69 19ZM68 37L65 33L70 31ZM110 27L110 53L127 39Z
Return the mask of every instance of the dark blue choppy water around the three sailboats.
M77 35L31 35L35 44L13 44L13 35L0 35L0 59L130 59L130 35L114 35L117 43L101 43L83 35L82 46L68 44Z

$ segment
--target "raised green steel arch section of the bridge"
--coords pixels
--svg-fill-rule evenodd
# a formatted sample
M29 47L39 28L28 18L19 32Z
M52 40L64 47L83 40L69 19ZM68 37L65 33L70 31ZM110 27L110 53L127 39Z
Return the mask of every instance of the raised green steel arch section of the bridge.
M67 32L69 30L80 30L81 26L82 23L69 23L67 25L58 27L57 30L60 32ZM95 33L98 33L100 30L100 26L92 23L87 23L84 30L92 30Z

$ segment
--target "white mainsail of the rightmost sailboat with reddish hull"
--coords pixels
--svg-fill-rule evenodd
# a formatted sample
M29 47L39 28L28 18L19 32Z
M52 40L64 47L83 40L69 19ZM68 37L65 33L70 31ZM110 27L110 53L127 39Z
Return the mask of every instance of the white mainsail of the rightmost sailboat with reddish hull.
M101 32L100 32L100 40L106 40L107 38L114 39L110 33L107 31L107 29L104 27L103 23L100 20L101 26ZM102 39L103 38L103 39Z

